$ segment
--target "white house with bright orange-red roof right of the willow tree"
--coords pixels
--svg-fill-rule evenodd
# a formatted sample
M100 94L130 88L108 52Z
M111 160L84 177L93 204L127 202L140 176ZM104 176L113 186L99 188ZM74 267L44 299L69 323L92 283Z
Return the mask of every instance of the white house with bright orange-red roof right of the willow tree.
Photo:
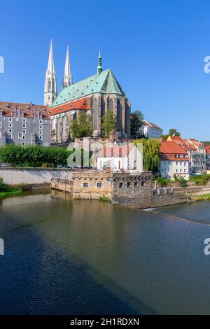
M176 141L163 141L160 146L160 175L166 179L174 179L175 175L189 179L189 155Z

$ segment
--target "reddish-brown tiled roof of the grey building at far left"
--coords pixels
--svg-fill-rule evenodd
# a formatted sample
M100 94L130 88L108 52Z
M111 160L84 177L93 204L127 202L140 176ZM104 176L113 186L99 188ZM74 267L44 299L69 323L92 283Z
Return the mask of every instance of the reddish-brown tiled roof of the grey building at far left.
M15 111L20 111L20 116L23 114L25 118L32 118L35 111L39 111L43 118L48 118L48 111L44 105L26 104L26 103L10 103L0 102L0 111L3 116L13 116Z

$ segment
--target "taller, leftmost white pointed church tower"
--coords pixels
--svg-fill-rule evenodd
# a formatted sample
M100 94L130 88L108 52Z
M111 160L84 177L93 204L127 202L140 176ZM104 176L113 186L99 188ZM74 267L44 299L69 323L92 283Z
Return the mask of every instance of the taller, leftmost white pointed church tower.
M46 70L45 76L45 95L44 95L44 104L50 106L57 96L57 82L55 74L55 65L52 49L52 40L50 43L50 53L48 59L48 69Z

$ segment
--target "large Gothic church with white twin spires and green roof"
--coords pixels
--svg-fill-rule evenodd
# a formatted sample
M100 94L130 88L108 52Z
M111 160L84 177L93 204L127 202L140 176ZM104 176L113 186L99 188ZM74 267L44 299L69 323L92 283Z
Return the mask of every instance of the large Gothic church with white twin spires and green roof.
M97 137L102 134L102 116L106 111L112 110L117 118L118 136L130 137L130 102L111 69L103 71L100 54L97 74L78 83L72 83L68 48L62 90L57 94L51 41L45 78L45 105L48 106L51 118L52 142L62 143L69 140L69 127L78 111L87 111L90 114L93 134Z

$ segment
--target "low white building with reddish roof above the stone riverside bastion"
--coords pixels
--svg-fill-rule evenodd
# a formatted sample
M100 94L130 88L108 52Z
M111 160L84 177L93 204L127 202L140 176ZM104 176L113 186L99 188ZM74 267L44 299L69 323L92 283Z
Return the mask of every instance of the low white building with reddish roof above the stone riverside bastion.
M143 153L133 144L104 146L97 153L97 169L143 172Z

